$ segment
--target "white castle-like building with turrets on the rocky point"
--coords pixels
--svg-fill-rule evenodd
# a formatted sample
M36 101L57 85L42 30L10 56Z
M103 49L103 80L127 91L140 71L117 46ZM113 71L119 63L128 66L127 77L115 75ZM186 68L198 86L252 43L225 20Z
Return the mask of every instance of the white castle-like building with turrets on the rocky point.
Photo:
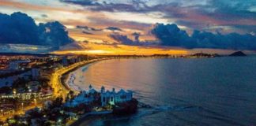
M115 92L115 88L112 91L105 91L105 87L101 87L100 91L101 106L115 105L116 103L128 102L133 98L132 91L124 91L121 89Z

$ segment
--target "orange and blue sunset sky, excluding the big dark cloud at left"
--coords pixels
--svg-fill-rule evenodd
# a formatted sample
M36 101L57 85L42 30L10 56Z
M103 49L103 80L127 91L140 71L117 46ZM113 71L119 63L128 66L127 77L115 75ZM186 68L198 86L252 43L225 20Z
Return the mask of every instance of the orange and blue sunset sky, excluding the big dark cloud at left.
M36 25L55 20L63 24L75 42L62 45L57 53L190 54L204 50L225 54L256 50L254 0L0 1L0 13L15 12L26 13ZM12 43L1 39L2 32L0 43L4 45L0 49L7 50L6 44Z

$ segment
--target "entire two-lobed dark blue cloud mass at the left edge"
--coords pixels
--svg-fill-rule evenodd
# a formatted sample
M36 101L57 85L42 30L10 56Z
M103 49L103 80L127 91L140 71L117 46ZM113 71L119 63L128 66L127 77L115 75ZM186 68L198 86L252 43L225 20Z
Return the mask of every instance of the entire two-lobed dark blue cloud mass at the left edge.
M72 43L65 26L58 21L36 25L25 13L0 13L0 43L58 46Z

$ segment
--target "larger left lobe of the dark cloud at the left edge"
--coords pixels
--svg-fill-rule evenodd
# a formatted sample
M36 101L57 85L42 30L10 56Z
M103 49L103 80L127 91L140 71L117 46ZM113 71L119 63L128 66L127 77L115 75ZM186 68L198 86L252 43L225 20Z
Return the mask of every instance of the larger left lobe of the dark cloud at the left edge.
M10 16L0 13L0 43L37 44L38 29L35 21L24 13Z

